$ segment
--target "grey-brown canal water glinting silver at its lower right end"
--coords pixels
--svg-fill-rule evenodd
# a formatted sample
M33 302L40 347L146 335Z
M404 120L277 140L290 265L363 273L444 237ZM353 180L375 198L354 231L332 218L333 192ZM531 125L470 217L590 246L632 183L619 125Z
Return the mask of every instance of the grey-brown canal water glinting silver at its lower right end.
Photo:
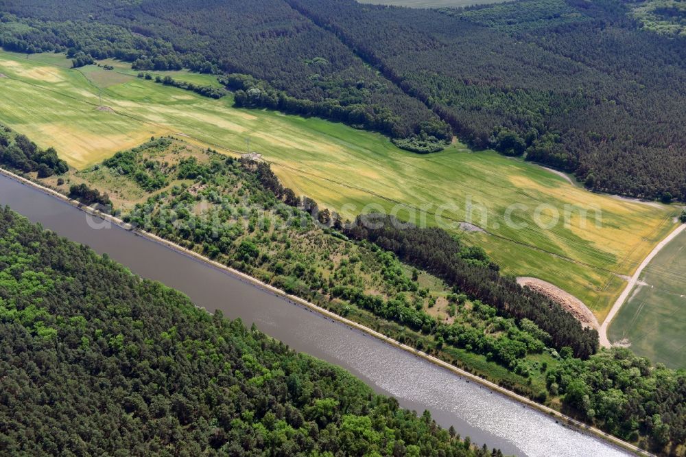
M554 419L430 362L392 347L316 312L294 305L178 253L135 235L0 175L0 204L8 204L74 242L107 253L133 272L161 281L191 297L209 311L282 340L297 351L346 368L377 392L396 397L401 406L431 411L445 427L454 425L475 443L526 456L624 456L604 441L555 423Z

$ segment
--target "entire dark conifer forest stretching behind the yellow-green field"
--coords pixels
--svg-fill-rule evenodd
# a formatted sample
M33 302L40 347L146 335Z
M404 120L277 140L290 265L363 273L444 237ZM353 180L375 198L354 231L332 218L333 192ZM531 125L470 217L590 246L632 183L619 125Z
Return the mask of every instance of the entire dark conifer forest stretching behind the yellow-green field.
M686 200L686 38L648 31L633 5L3 0L0 45L250 75L244 106L379 130L416 152L452 129L590 189Z

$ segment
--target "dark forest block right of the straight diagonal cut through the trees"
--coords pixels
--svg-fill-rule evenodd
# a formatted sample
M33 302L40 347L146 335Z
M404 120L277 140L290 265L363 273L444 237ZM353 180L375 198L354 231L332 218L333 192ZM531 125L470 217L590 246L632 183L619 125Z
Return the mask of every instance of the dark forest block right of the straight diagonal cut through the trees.
M686 198L686 41L630 3L525 0L440 12L288 0L461 139L575 172L587 187Z

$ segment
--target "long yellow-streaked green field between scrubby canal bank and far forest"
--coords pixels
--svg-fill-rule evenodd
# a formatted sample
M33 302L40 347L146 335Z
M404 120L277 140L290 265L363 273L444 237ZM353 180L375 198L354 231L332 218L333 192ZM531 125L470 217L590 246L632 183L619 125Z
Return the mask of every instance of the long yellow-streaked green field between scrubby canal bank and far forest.
M296 193L346 217L384 209L418 222L423 216L416 209L425 207L427 224L451 225L447 228L484 247L505 272L558 285L587 303L599 320L624 286L617 274L632 274L674 227L676 208L591 194L547 169L495 152L470 152L458 142L438 154L405 152L379 134L233 108L230 95L201 97L141 80L125 64L113 63L115 71L74 70L57 54L27 59L1 53L0 73L7 78L0 78L0 121L43 147L53 145L80 169L152 135L174 134L229 154L246 150L250 139L251 150L272 162ZM171 74L196 82L212 78ZM98 108L99 97L107 108ZM470 212L468 199L473 222L488 233L456 228ZM512 204L520 205L512 222L527 226L506 224ZM569 226L563 223L565 205L573 205ZM600 208L602 227L595 226L595 211L582 226L578 208ZM549 222L554 212L560 222L541 228L534 223L537 209L543 209L540 222Z

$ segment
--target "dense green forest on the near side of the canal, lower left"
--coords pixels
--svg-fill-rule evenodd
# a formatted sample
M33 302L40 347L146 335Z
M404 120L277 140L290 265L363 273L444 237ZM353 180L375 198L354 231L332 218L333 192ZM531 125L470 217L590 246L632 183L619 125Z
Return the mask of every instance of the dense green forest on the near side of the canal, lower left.
M0 335L8 454L501 455L8 208Z

